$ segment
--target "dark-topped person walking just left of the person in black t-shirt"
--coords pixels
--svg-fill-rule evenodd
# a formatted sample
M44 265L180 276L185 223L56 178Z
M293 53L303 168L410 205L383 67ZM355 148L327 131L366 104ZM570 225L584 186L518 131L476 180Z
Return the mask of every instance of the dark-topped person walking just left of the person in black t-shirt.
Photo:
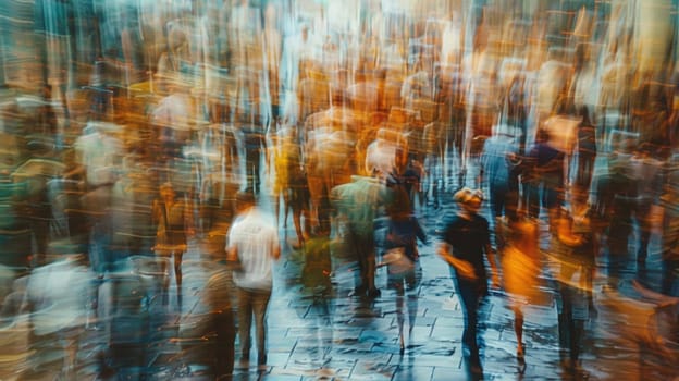
M385 243L386 253L392 255L391 258L388 255L383 258L387 266L387 286L396 292L398 343L402 354L406 349L404 302L407 297L408 337L412 341L412 329L418 310L417 287L422 279L417 239L427 243L427 234L410 209L409 194L403 189L397 190L388 208L390 222Z

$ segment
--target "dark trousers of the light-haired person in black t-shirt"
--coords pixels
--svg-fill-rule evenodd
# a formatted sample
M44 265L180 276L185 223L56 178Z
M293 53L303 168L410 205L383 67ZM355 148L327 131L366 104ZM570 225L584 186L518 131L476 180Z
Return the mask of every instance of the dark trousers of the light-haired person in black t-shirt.
M465 317L465 332L462 333L462 344L469 348L469 360L472 365L481 365L479 355L479 309L481 302L487 293L485 280L466 281L454 276L459 299Z

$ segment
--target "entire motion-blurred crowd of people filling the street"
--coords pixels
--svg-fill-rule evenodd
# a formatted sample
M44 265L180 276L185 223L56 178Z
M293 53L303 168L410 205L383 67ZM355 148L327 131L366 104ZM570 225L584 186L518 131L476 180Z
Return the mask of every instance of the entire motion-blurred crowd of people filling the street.
M524 356L523 307L544 303L542 228L561 263L573 366L597 265L615 288L657 257L657 292L679 296L669 1L36 3L41 33L26 46L44 65L40 88L10 81L8 63L2 77L14 95L0 133L8 300L17 280L78 253L91 310L98 287L139 257L153 258L163 304L181 306L183 256L196 247L223 271L207 288L233 274L233 300L207 302L219 356L234 357L224 327L237 324L240 360L254 346L266 365L292 211L291 249L305 254L301 282L317 297L332 294L333 238L357 263L351 297L379 298L386 267L403 353L427 276L418 239L433 241L418 216L450 198L437 253L476 373L489 281L513 296Z

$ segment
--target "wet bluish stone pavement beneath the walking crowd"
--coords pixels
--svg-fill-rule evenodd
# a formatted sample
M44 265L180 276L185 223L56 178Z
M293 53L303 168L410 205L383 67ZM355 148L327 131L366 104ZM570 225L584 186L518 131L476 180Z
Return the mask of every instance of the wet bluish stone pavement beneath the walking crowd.
M428 234L435 237L441 217L452 212L453 205L446 202L437 209L421 208L419 214ZM545 243L547 235L543 228ZM274 292L268 310L267 366L257 367L256 360L239 362L236 339L235 380L478 378L472 377L464 359L462 315L448 267L435 255L437 238L420 249L423 279L418 290L417 320L412 335L406 334L406 349L400 354L395 295L386 287L384 268L378 270L380 297L349 296L357 270L353 258L348 258L341 243L335 241L333 292L326 298L313 297L300 285L304 255L292 248L294 229L282 228L281 237L284 238L284 254L275 266ZM192 353L205 337L194 339L189 346L193 349L187 349L189 339L182 333L196 324L199 321L196 317L205 312L201 299L206 281L223 266L207 254L210 249L206 239L196 237L185 255L181 305L174 280L171 280L169 295L163 297L159 274L152 267L144 269L148 262L136 260L131 261L134 266L109 273L99 282L97 316L87 311L85 321L73 324L73 329L29 336L27 320L14 318L2 332L13 341L3 344L8 349L3 349L7 352L2 356L4 364L0 364L3 367L0 378L211 379L200 357ZM601 258L595 282L596 314L584 318L581 359L571 367L568 356L559 349L558 298L550 271L558 263L546 254L543 276L550 297L542 306L526 308L524 362L516 358L513 314L506 296L502 291L493 291L489 298L482 329L484 379L633 380L644 377L669 380L677 377L671 362L677 352L663 353L654 347L659 339L654 336L657 330L652 329L656 308L639 302L632 286L635 279L651 286L658 282L656 255L651 255L646 270L639 274L633 268L635 263L630 261L632 268L616 282L617 290L608 286L610 282ZM670 316L676 317L676 311ZM669 347L676 349L676 346ZM70 354L74 356L72 361Z

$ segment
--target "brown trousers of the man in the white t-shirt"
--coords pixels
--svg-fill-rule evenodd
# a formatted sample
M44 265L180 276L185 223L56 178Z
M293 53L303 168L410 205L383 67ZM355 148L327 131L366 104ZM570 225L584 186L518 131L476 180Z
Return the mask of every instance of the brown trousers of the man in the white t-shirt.
M240 337L242 359L250 357L250 328L252 315L255 316L255 330L257 331L258 361L266 362L267 355L267 306L271 297L270 290L237 288L238 294L238 336Z

